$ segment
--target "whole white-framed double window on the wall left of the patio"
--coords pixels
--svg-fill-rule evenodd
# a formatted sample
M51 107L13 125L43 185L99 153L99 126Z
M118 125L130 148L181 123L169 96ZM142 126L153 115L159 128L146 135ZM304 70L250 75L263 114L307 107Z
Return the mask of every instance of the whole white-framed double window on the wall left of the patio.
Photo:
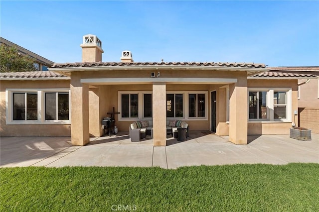
M68 89L6 89L6 124L69 124Z

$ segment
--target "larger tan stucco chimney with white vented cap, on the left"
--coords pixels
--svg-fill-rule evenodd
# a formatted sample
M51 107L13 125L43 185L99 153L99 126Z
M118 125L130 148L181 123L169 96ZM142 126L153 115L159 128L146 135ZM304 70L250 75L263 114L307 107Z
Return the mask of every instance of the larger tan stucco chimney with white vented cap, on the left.
M102 42L96 35L87 34L83 36L82 62L102 62Z

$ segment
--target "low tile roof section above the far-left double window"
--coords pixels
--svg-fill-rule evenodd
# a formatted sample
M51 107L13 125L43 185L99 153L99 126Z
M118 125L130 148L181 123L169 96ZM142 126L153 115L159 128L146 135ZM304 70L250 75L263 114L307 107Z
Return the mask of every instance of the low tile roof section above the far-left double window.
M1 79L8 80L25 80L25 79L70 79L67 76L57 74L53 71L31 71L31 72L6 72L0 73Z

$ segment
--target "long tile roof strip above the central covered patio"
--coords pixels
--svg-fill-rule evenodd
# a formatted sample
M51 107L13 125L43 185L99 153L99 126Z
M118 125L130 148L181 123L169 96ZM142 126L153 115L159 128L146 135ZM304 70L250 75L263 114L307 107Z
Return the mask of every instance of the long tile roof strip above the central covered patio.
M52 68L72 67L116 67L116 66L205 66L205 67L240 67L265 68L262 63L222 63L222 62L84 62L84 63L55 63Z

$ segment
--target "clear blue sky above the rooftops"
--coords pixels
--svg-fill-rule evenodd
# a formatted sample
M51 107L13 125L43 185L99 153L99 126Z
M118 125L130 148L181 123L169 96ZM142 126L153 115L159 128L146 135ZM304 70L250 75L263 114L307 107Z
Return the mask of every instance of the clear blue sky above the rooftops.
M1 37L56 63L80 62L82 36L103 61L319 66L319 1L3 1Z

